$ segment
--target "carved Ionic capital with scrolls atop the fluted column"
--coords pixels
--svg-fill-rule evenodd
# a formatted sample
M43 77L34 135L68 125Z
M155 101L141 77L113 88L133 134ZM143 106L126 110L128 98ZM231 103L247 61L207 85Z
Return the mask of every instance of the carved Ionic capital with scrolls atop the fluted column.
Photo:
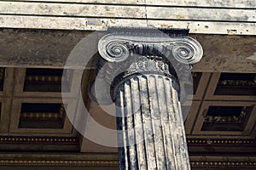
M101 89L93 85L91 98L101 104L111 103L113 88L126 77L160 74L177 82L181 99L185 99L184 84L192 83L191 65L200 61L203 54L201 44L188 33L188 29L108 29L98 42L102 59L98 62L96 82ZM106 94L108 99L104 97Z

